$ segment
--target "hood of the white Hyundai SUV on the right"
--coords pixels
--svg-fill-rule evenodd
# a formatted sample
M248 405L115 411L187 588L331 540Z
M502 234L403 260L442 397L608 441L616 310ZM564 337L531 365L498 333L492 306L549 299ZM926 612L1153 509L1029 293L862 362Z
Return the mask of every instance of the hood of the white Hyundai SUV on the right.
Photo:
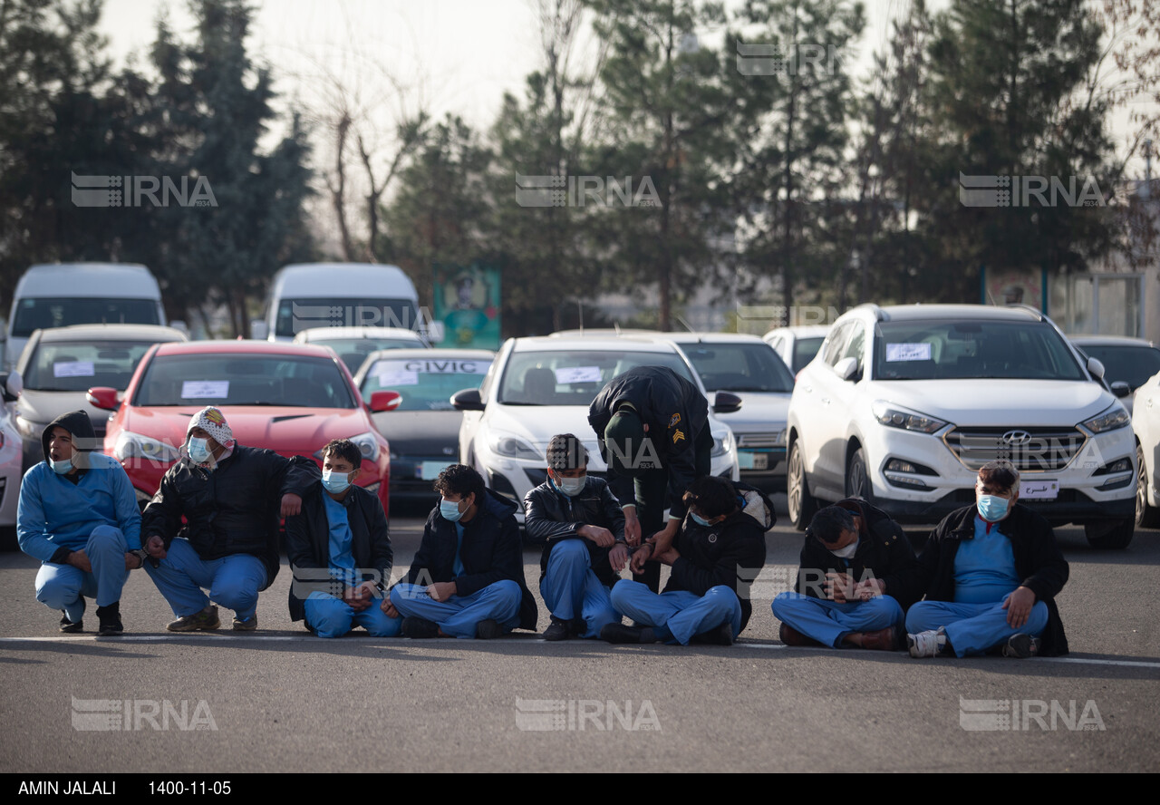
M1073 426L1103 413L1116 398L1083 380L875 380L864 393L952 425Z

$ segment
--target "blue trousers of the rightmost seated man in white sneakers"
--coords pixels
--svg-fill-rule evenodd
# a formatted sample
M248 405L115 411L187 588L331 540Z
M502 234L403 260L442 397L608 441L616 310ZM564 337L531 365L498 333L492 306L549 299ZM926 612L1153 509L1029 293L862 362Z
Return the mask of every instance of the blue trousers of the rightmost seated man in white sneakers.
M1006 643L1013 634L1042 634L1047 628L1047 604L1036 601L1027 623L1018 629L1007 625L1002 601L983 604L920 601L906 614L906 631L911 634L940 626L944 628L956 657L983 654Z

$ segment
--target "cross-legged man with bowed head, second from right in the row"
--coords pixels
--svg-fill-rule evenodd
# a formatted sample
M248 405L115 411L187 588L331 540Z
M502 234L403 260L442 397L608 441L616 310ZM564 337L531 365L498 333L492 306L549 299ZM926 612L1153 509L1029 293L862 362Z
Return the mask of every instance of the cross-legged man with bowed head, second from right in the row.
M774 599L782 643L893 651L920 583L914 550L885 512L858 498L827 506L805 531L795 592Z

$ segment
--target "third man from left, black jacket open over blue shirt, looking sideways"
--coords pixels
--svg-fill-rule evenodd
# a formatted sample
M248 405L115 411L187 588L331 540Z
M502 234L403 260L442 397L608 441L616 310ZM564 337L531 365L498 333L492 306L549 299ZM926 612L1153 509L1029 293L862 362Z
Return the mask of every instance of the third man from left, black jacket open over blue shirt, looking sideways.
M399 614L384 596L391 576L391 536L378 495L355 486L358 445L336 438L322 448L322 478L287 517L287 557L293 572L290 619L319 637L362 626L397 637Z

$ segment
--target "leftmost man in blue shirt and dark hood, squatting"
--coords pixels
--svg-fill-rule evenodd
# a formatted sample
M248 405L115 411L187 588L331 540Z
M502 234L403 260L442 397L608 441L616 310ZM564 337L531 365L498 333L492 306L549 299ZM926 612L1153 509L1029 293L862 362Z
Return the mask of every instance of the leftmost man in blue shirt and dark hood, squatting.
M36 600L61 612L60 631L80 632L85 596L96 599L99 634L124 632L121 590L142 566L140 513L121 464L93 452L84 411L49 422L44 460L24 473L16 508L20 550L41 560Z

